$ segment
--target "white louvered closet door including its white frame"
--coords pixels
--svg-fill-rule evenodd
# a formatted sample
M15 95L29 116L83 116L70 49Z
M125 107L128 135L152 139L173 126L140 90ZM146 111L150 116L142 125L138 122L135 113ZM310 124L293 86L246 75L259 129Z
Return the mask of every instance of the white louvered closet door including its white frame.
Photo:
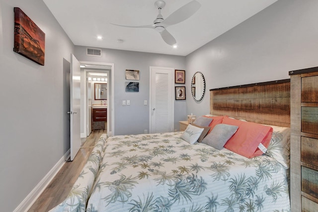
M150 67L150 133L173 132L174 69Z

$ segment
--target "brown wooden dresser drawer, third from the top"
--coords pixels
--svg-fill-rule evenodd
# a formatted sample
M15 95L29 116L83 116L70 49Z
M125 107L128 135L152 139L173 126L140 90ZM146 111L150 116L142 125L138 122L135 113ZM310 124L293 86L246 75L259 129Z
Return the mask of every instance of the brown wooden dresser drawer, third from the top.
M302 136L301 160L305 163L318 166L318 139Z

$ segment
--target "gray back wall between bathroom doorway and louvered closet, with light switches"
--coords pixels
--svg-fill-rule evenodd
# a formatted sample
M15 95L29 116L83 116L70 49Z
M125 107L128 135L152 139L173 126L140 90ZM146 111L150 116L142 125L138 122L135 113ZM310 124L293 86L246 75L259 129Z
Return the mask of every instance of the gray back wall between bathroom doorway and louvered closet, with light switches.
M114 64L115 73L115 135L140 134L147 129L149 132L149 68L150 66L170 67L185 70L185 57L102 49L102 57L87 56L84 46L75 46L75 56L79 61L104 62ZM140 70L139 92L125 92L125 70ZM187 75L187 72L186 72ZM173 73L174 76L174 73ZM177 84L183 86L183 84ZM173 91L174 92L174 91ZM190 98L190 93L187 98ZM130 106L122 106L123 100L130 100ZM179 130L179 120L186 119L186 102L175 101L174 129Z

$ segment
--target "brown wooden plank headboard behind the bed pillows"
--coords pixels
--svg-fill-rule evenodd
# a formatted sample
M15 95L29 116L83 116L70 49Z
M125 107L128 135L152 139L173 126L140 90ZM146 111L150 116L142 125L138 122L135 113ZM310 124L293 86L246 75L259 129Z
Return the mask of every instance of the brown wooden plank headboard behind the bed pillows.
M290 79L210 89L210 114L290 127Z

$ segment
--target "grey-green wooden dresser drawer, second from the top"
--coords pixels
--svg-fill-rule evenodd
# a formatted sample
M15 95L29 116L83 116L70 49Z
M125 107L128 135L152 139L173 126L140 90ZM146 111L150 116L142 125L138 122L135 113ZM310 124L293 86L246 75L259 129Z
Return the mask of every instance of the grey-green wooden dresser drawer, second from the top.
M302 132L318 134L318 107L302 107Z

